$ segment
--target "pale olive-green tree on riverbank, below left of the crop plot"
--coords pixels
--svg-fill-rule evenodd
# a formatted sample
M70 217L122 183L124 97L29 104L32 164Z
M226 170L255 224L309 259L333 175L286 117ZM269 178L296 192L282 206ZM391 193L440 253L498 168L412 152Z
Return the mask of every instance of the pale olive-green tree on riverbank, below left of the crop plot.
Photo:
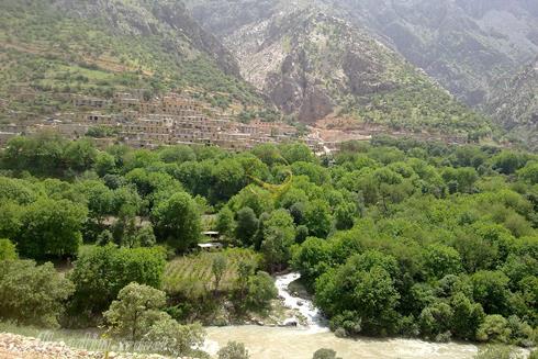
M110 308L103 313L111 335L138 341L158 321L167 317L161 312L166 293L148 285L130 283L119 293Z

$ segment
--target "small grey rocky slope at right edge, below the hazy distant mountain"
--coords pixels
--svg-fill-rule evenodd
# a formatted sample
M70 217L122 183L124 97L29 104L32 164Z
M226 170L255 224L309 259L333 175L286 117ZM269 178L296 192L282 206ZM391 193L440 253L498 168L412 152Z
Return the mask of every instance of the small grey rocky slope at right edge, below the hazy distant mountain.
M509 79L501 79L487 111L509 137L538 149L538 58Z

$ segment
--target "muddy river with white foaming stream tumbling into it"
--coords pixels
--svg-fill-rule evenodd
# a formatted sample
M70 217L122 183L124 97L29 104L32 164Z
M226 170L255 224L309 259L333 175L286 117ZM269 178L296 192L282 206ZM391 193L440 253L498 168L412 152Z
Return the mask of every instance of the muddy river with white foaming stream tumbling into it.
M329 332L327 321L312 302L295 298L288 291L288 284L299 277L298 273L279 276L276 285L284 305L295 308L306 319L306 325L208 327L204 349L214 356L227 341L240 341L248 348L253 359L310 359L320 348L334 349L343 359L464 359L472 358L478 351L477 346L460 343L428 343L403 338L337 338Z

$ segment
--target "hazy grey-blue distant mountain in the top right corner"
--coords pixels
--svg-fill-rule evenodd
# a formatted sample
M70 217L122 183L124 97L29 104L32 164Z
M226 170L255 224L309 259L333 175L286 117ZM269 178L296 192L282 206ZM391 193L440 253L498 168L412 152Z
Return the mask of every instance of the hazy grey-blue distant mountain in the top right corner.
M423 68L468 104L538 53L535 0L320 0Z

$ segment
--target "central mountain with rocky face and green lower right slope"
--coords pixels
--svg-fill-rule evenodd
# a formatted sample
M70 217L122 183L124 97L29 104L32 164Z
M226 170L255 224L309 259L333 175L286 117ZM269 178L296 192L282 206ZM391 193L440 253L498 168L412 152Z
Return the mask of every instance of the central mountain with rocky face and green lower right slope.
M490 131L424 71L324 7L264 0L188 7L237 56L245 79L302 122L351 116L413 131Z

